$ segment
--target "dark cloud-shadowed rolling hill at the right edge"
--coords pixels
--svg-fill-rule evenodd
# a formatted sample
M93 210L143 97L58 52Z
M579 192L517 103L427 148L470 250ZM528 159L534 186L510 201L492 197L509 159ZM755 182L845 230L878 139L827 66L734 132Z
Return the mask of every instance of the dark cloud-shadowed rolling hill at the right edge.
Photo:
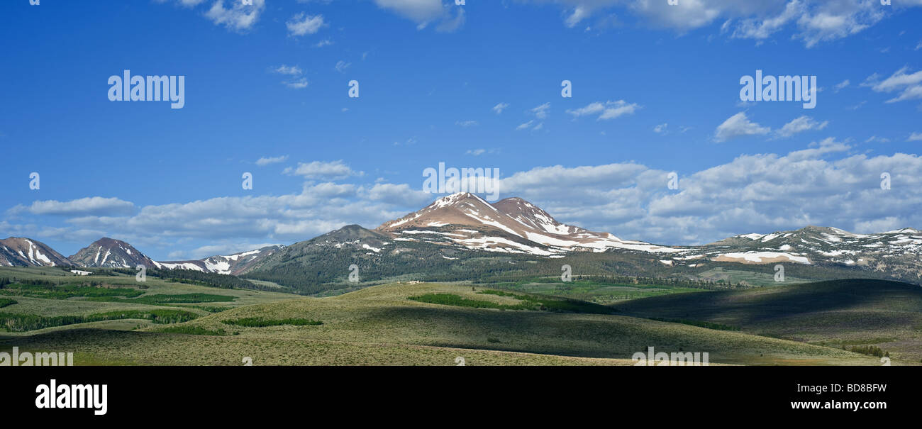
M922 359L922 287L833 280L743 291L680 293L613 305L623 314L709 322L742 332L832 347L876 346Z

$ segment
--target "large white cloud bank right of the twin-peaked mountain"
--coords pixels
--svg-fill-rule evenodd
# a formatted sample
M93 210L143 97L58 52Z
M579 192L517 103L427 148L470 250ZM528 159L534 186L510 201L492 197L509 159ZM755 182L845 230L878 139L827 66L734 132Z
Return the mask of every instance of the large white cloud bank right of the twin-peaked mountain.
M741 155L682 174L678 193L668 190L668 172L635 163L539 167L503 178L501 189L566 223L661 244L807 225L881 232L922 224L922 158L844 157L849 149L827 138L786 155ZM899 189L881 192L883 171Z

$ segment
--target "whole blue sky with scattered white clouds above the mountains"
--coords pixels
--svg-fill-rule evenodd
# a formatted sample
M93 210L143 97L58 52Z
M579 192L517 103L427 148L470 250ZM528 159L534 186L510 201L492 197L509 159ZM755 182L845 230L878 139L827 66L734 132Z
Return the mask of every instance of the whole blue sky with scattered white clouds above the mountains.
M374 228L439 162L661 244L922 227L922 0L40 3L0 4L0 235L65 256ZM125 69L183 76L183 108L110 101ZM756 70L817 77L816 107L740 101Z

